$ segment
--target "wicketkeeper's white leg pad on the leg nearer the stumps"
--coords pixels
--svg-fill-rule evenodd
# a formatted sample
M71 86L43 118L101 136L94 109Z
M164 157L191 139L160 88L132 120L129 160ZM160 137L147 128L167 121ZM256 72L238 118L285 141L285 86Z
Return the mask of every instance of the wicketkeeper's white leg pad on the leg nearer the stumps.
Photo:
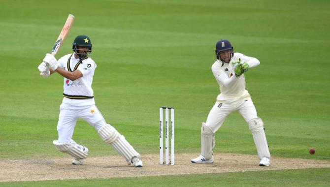
M215 146L215 138L213 130L202 123L200 131L200 144L201 144L201 155L209 160L213 156L213 148Z

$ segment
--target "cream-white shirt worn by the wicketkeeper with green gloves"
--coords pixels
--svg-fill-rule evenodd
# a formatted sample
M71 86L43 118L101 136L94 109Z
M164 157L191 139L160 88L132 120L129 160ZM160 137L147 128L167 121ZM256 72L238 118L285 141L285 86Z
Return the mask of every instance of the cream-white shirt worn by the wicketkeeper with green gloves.
M259 60L253 57L245 56L241 53L234 53L229 63L217 60L212 65L212 72L220 87L220 94L217 96L219 102L234 102L241 98L250 97L245 90L245 77L242 74L235 76L231 62L245 61L249 63L249 68L260 64Z

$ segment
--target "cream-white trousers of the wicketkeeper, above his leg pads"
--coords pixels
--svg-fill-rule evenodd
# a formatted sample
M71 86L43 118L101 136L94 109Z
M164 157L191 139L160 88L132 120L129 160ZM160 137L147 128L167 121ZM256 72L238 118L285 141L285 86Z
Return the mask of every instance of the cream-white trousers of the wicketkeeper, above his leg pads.
M208 114L206 126L209 126L213 130L213 133L215 133L224 123L226 117L234 111L238 111L238 113L243 116L246 123L254 118L258 118L251 97L246 97L231 103L217 101Z

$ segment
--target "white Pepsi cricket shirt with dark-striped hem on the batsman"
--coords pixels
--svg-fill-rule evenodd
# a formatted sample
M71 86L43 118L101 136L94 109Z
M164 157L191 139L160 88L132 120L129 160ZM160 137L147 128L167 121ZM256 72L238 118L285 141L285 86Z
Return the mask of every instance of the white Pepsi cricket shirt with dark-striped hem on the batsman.
M78 69L83 74L82 77L71 81L64 77L63 85L63 103L74 106L87 106L95 104L94 92L92 89L93 75L96 63L91 59L84 59L82 62L74 58L73 54L63 56L58 61L59 67L66 71Z

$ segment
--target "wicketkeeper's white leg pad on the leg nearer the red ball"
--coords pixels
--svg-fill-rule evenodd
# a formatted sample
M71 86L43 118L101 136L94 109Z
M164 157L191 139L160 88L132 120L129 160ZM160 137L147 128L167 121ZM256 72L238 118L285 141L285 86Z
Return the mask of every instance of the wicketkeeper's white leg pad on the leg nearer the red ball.
M259 159L270 158L266 135L264 134L264 122L260 118L255 118L250 120L248 125L256 144Z

